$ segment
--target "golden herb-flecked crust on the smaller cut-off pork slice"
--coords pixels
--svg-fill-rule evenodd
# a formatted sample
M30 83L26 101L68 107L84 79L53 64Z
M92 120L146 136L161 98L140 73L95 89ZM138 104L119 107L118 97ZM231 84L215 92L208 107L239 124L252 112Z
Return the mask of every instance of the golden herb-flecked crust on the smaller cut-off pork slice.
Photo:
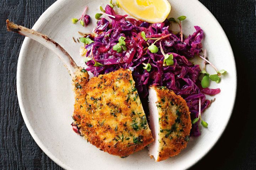
M187 147L191 130L190 111L186 101L166 87L154 88L159 114L159 156L156 161L173 157Z

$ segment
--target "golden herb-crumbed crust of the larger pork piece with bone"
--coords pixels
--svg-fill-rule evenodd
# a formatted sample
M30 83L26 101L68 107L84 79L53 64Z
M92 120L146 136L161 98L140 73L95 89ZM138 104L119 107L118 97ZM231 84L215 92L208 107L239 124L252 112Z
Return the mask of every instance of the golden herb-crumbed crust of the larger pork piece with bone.
M131 73L120 69L89 81L80 71L74 80L73 125L92 145L120 157L153 141Z

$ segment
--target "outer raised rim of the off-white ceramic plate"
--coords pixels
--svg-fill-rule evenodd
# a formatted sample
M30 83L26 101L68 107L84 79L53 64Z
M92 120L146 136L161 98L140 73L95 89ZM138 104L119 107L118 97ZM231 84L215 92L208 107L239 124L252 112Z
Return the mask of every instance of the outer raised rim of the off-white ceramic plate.
M38 28L41 26L41 23L43 23L44 21L44 18L47 18L50 14L51 14L51 11L54 11L55 8L61 6L62 2L64 2L66 0L57 0L55 1L51 6L49 6L47 8L46 11L44 11L42 13L42 15L38 18L38 20L36 21L36 23L34 24L34 26L32 27L32 29L34 30L38 30ZM215 20L215 22L217 23L216 27L218 27L220 30L222 30L222 34L223 34L223 39L228 42L228 51L230 52L230 54L233 56L233 65L234 65L234 71L235 71L235 75L234 75L234 78L235 78L235 85L234 85L234 98L232 100L232 109L231 109L231 112L229 113L229 117L228 117L228 120L226 122L226 124L223 126L222 130L221 130L221 133L220 135L218 136L218 138L215 139L213 145L209 148L209 149L206 149L203 154L202 154L202 157L197 159L197 160L194 160L193 162L190 162L187 166L185 166L184 169L189 169L191 168L193 165L195 165L196 163L198 163L202 158L204 158L206 156L207 153L209 153L212 148L216 145L216 143L219 141L220 137L223 135L225 129L226 129L226 126L229 124L229 121L230 121L230 118L231 118L231 115L234 111L234 104L235 104L235 100L236 100L236 95L237 95L237 69L236 69L236 62L235 62L235 56L234 56L234 52L233 52L233 49L231 47L231 44L229 42L229 39L228 37L226 36L226 33L224 31L224 29L222 28L222 26L220 25L220 23L218 22L218 20L215 18L215 16L212 14L212 12L210 12L208 10L208 8L206 6L204 6L199 0L193 0L195 1L196 3L198 3L198 5L200 5L201 7L205 8L205 10L209 13L209 15ZM30 38L28 37L25 37L22 45L21 45L21 50L20 50L20 54L18 56L18 63L17 63L17 74L16 74L16 88L17 88L17 97L18 97L18 103L19 103L19 107L20 107L20 111L21 111L21 114L22 114L22 117L23 117L23 120L27 126L27 129L28 131L30 132L31 136L33 137L34 141L37 143L37 145L42 149L42 151L50 158L52 159L56 164L58 164L60 167L62 167L63 169L67 169L67 170L72 170L71 167L69 167L68 165L66 165L64 162L62 162L59 158L55 157L54 154L52 154L49 149L43 144L43 142L39 139L39 137L37 136L37 134L34 132L29 120L28 120L28 117L27 117L27 114L26 114L26 111L25 111L25 107L23 105L23 101L22 101L22 93L21 93L21 68L22 68L22 58L25 57L25 49L26 49L26 46L28 44L30 44L30 42L33 41L31 40Z

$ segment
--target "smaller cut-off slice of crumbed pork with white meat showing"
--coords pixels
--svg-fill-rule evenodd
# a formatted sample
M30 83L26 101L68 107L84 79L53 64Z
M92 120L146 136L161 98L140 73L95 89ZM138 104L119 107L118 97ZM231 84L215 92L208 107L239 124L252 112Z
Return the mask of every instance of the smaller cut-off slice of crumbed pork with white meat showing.
M149 145L149 155L159 162L179 154L186 148L191 130L186 101L166 87L151 86L149 111L154 138L154 142Z

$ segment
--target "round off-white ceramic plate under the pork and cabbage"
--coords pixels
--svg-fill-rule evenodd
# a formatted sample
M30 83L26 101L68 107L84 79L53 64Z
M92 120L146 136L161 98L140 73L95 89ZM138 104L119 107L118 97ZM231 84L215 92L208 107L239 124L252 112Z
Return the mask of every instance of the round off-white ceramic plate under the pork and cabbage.
M102 152L76 135L70 126L74 95L66 68L53 52L26 38L21 47L17 71L21 113L34 140L58 165L68 170L187 169L217 142L229 121L235 100L236 68L233 52L223 29L199 1L169 1L172 5L170 16L187 16L183 22L184 33L192 34L194 25L201 26L206 34L203 45L208 50L209 60L219 69L228 71L220 84L211 84L211 87L220 87L222 92L215 96L217 100L203 114L209 128L203 128L200 137L191 138L187 148L178 156L160 163L149 158L146 148L126 159ZM43 13L33 29L59 42L78 65L84 66L79 56L80 44L74 43L72 36L79 37L78 31L89 33L96 24L94 15L99 12L99 6L106 4L108 0L58 0ZM81 27L79 23L71 23L71 18L80 17L85 5L89 6L88 14L92 18L87 28ZM214 73L210 67L208 71Z

